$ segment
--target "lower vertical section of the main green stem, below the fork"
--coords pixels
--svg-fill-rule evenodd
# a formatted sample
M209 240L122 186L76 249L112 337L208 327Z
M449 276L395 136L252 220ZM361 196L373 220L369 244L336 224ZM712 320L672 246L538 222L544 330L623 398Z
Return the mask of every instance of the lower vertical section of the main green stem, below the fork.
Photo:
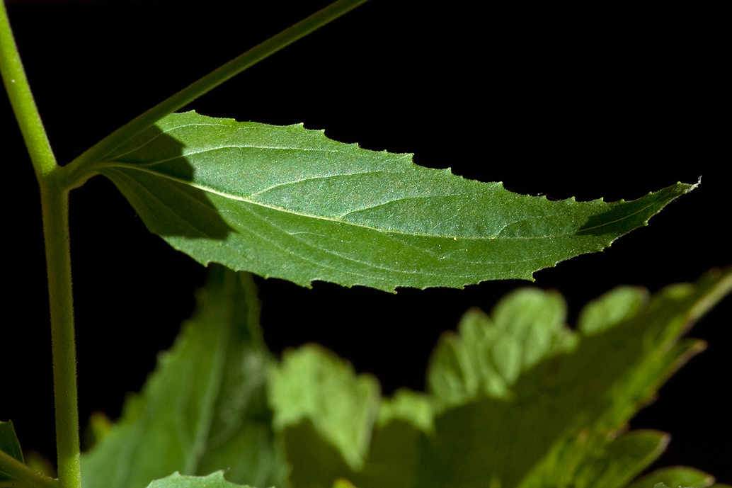
M55 178L41 183L48 296L51 303L53 400L56 405L56 454L59 488L81 488L76 347L71 292L69 192Z

